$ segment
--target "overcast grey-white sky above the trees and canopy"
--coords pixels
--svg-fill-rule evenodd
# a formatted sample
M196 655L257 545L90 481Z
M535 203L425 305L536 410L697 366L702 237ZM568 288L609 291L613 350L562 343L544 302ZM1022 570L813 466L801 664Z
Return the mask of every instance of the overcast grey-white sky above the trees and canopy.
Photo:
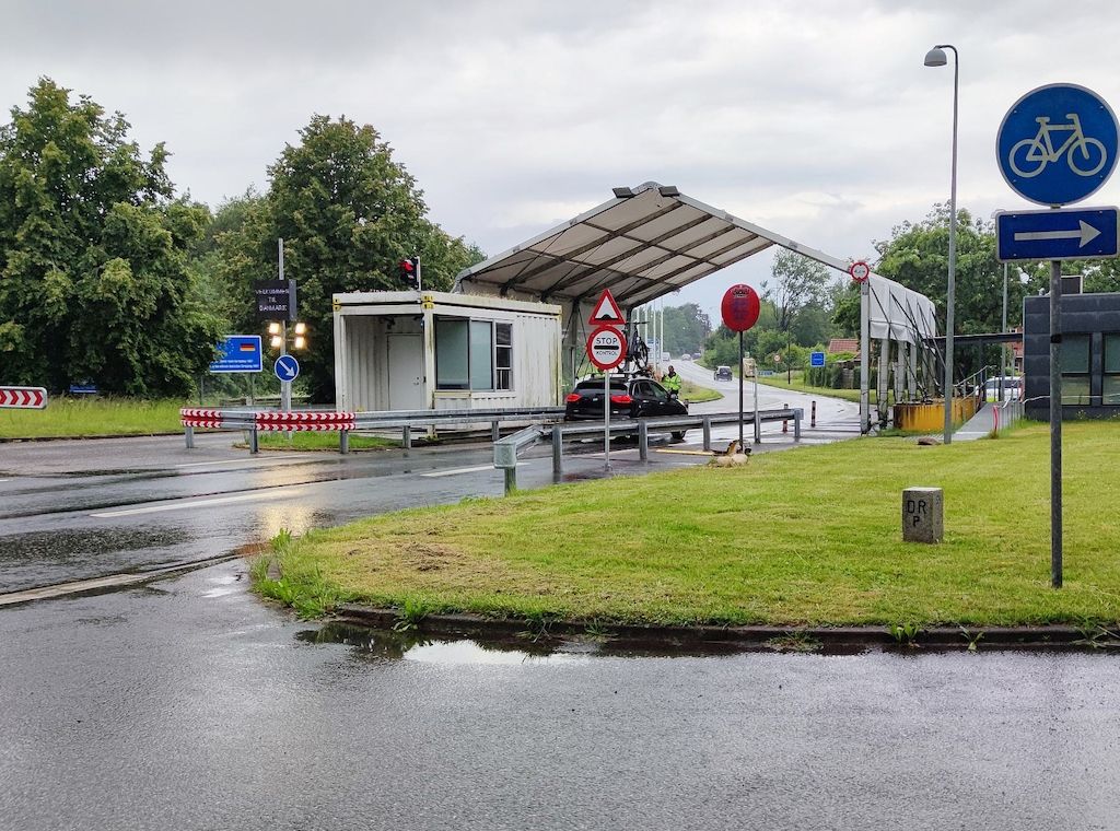
M373 124L432 218L494 254L655 180L840 258L948 202L961 53L959 204L1026 203L995 159L1042 84L1120 105L1116 0L0 0L0 102L49 76L166 141L180 190L249 186L312 113ZM4 116L7 120L7 115ZM1114 177L1091 204L1120 202ZM756 256L665 302L713 321Z

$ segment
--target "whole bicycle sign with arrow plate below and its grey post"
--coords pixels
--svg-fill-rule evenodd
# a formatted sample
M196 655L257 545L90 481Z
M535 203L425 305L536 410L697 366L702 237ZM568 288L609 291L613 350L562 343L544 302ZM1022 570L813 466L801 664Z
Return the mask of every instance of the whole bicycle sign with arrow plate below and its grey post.
M1112 108L1076 84L1047 84L1016 101L996 138L999 170L1030 202L1061 208L1112 175L1120 125ZM1002 213L1002 260L1051 261L1051 586L1062 588L1062 260L1117 255L1116 208Z

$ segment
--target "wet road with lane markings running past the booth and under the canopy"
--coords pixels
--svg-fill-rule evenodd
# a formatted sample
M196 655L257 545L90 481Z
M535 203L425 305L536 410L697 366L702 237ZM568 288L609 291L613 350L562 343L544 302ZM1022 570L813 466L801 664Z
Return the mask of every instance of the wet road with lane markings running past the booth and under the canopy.
M727 396L694 404L692 412L735 409L736 383L712 382L701 367L682 366L681 372ZM805 396L783 391L768 390L760 405L786 401L808 412ZM753 405L749 385L747 404ZM851 438L858 430L851 408L822 401L819 427L806 426L802 443ZM793 447L790 430L766 424L756 451ZM713 430L717 442L736 435L736 427ZM268 540L282 527L299 534L385 511L498 496L504 488L488 442L345 457L251 457L232 447L234 436L199 436L194 450L181 437L0 443L0 592L199 560ZM699 449L699 430L690 431L683 445L670 446L666 439L655 437L660 443L647 464L633 442L616 443L613 474L707 460L681 452ZM564 471L566 482L604 475L601 443L569 446ZM552 484L550 449L524 454L517 479L529 488Z

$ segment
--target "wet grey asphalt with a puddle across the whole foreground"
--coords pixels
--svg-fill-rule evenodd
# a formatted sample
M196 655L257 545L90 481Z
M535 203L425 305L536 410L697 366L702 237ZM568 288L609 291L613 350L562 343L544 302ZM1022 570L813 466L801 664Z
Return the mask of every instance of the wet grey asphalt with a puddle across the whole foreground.
M316 643L226 563L0 610L0 828L1114 829L1103 654Z

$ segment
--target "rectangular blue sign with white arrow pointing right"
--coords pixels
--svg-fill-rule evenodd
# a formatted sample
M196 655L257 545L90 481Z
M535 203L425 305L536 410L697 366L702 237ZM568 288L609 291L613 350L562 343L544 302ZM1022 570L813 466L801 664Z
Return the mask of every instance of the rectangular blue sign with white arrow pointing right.
M1120 211L1001 211L996 214L996 258L1012 260L1098 260L1118 253Z

